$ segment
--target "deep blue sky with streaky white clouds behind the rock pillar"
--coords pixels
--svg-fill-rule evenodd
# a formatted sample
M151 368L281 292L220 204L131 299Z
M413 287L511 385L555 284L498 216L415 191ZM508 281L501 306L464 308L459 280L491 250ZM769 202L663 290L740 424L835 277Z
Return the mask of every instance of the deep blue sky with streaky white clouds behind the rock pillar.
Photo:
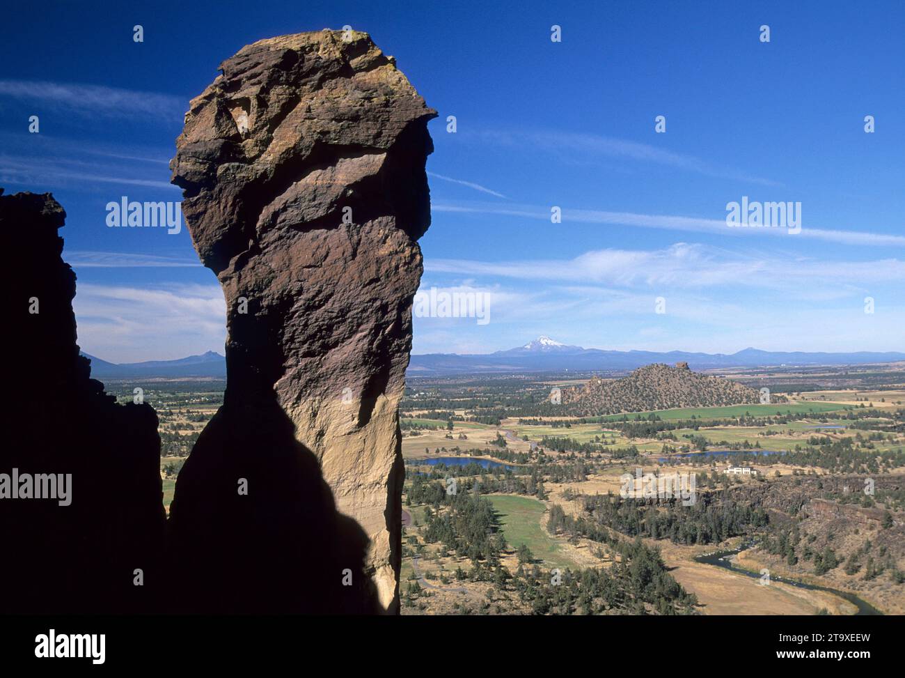
M440 113L422 289L490 299L486 324L416 317L414 353L538 334L615 349L905 349L905 4L557 5L6 13L0 186L52 191L66 208L82 349L113 362L223 352L223 297L186 228L107 228L105 205L180 199L167 162L220 62L344 24L394 55ZM729 228L727 203L743 196L800 202L801 232Z

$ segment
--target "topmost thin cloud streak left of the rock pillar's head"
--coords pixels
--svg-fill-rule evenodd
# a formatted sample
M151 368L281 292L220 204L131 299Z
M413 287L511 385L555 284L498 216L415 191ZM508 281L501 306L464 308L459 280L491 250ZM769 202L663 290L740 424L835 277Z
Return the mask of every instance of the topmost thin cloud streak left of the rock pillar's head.
M0 80L0 96L118 118L124 115L172 118L188 110L187 97L75 82Z

